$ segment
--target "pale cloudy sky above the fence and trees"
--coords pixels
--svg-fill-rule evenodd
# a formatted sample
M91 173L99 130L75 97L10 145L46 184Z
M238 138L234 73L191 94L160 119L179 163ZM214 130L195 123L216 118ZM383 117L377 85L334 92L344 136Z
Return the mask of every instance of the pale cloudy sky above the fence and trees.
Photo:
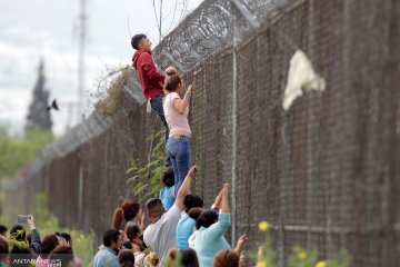
M190 12L202 0L164 0L166 31L178 24L183 1ZM0 125L11 134L22 134L42 58L49 102L57 99L60 107L51 113L53 132L61 136L79 118L80 0L0 0ZM144 32L153 48L158 43L152 0L87 0L86 29L83 109L88 113L88 96L97 90L107 69L131 62L130 34Z

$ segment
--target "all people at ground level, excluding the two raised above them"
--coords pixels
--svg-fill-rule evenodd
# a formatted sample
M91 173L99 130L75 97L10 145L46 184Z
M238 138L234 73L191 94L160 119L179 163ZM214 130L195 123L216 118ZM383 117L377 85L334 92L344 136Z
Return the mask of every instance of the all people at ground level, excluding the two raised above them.
M166 210L160 198L146 202L146 212L134 200L124 200L111 218L110 229L93 256L92 267L237 267L243 263L241 236L231 248L223 235L230 225L229 184L223 185L213 205L206 208L199 196L189 194L198 168L192 166ZM170 168L163 174L170 176ZM146 220L148 218L148 224ZM43 238L29 216L28 229L14 225L8 234L0 226L1 267L80 267L68 233L51 233ZM57 265L59 264L59 265Z

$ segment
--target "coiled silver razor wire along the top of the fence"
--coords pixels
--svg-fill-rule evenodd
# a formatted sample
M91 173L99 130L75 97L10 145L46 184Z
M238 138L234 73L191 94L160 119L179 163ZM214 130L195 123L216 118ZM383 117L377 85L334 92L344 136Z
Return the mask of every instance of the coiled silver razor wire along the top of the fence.
M211 53L219 52L233 41L232 2L250 12L254 20L270 11L276 1L226 1L206 0L190 13L154 49L153 57L159 68L177 67L183 75L199 66ZM237 21L237 24L238 21ZM246 23L240 22L241 26ZM144 102L137 71L130 70L127 86L123 88L138 105ZM61 138L44 148L39 157L29 165L30 171L38 171L57 158L62 158L91 138L99 136L112 125L109 117L90 116L82 123L69 129Z

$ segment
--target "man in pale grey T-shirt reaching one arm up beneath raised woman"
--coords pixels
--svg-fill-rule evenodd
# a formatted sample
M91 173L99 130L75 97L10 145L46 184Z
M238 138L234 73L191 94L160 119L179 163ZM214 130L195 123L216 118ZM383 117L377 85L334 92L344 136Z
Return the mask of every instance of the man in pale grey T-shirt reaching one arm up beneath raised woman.
M177 226L183 209L183 199L189 192L190 182L197 171L196 166L190 168L178 190L173 206L167 212L158 198L152 198L146 204L151 224L143 233L143 241L146 246L156 251L160 263L167 257L169 249L177 248Z

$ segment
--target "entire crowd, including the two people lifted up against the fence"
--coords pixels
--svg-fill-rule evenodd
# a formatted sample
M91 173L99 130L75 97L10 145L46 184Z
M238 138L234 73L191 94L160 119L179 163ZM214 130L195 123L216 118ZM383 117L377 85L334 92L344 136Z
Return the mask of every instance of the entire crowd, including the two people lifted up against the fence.
M241 236L233 249L223 237L231 220L229 185L223 185L210 208L204 207L199 196L190 194L198 172L197 166L191 166L192 134L188 121L194 87L191 85L184 91L182 78L173 67L164 73L158 71L151 56L152 43L144 34L133 36L131 44L137 50L132 61L148 107L158 113L166 131L163 188L159 198L149 199L144 208L134 200L126 200L114 210L110 229L103 233L102 245L90 266L240 266L247 237ZM29 235L23 226L16 225L9 236L7 228L0 227L1 266L32 263L16 261L19 255L34 259L39 267L56 266L54 260L61 263L59 266L81 266L69 234L53 233L41 239L33 216L29 217L28 226Z

